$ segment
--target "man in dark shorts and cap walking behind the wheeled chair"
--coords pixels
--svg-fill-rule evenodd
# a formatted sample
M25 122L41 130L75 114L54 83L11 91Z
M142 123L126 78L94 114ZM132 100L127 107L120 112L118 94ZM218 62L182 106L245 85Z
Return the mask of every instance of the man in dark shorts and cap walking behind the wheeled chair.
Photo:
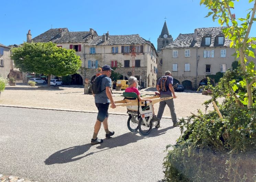
M95 105L98 108L98 115L97 115L97 121L94 125L94 132L91 139L91 144L101 144L103 142L103 139L99 139L97 137L101 123L103 123L103 127L106 132L106 139L111 138L112 135L114 135L115 132L110 132L108 128L108 109L109 109L109 103L111 103L111 108L115 109L115 103L112 97L111 92L111 79L109 78L111 76L111 69L110 66L105 65L102 67L102 75L98 76L92 83L92 93L95 100Z

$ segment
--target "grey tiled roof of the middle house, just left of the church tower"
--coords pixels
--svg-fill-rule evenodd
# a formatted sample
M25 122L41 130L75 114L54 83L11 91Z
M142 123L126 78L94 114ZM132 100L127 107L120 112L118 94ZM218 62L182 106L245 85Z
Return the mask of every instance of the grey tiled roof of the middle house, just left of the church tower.
M93 38L87 43L87 45L127 45L127 44L148 44L144 38L140 37L138 34L134 35L109 35L102 42L102 36L93 36Z

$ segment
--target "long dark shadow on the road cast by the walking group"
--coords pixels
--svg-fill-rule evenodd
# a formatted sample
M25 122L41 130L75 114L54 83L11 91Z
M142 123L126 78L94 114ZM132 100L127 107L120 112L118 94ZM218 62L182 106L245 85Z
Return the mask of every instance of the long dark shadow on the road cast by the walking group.
M166 131L168 129L172 129L172 128L174 128L174 127L171 126L171 127L167 127L164 129L152 129L151 133L146 136L136 135L138 132L125 133L123 135L111 138L110 139L111 142L103 142L101 145L97 146L96 148L97 149L105 148L103 150L108 150L108 149L115 148L115 147L125 146L130 143L135 143L138 140L141 140L143 138L163 135L166 133ZM91 146L92 145L89 143L89 144L85 144L85 145L78 145L78 146L69 147L66 149L59 150L59 151L53 153L51 156L49 156L44 162L46 165L51 165L51 164L56 164L56 163L61 164L61 163L73 162L73 161L82 159L84 157L87 157L89 155L92 155L93 153L103 151L103 150L99 150L97 152L90 152L84 156L80 156L80 155L84 154L85 152L87 152ZM80 156L80 157L77 157L77 156Z

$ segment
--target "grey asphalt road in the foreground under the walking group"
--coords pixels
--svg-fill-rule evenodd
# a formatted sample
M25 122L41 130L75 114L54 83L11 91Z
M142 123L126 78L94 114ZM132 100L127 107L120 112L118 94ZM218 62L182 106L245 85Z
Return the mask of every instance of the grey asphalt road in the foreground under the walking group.
M0 107L0 174L40 182L150 181L164 178L166 146L180 135L170 119L147 136L127 116L110 115L115 131L90 145L96 114ZM103 126L98 137L104 138Z

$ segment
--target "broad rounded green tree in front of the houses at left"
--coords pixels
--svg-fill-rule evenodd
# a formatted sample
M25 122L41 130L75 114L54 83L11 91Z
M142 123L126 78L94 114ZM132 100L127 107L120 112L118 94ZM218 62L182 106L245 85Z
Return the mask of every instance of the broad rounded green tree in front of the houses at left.
M11 58L21 71L48 75L48 86L51 75L74 74L81 67L80 57L75 50L57 47L52 42L25 42L21 47L12 49Z

